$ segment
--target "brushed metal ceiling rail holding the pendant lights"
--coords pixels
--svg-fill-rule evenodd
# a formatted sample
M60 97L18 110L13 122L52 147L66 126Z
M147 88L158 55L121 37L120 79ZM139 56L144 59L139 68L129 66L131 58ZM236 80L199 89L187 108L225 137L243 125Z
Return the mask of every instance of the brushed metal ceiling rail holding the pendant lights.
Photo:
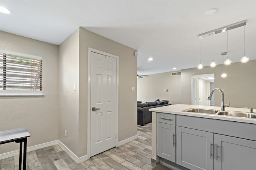
M212 30L212 31L209 31L209 32L205 32L203 34L199 34L198 38L206 38L208 36L211 36L212 34L218 34L218 33L225 32L225 31L228 31L228 30L232 30L234 28L242 27L242 26L245 26L245 25L246 25L246 20L243 20L243 21L240 21L240 22L236 22L234 24L230 24L228 26L224 26L222 28L218 28L218 29L215 29L215 30Z

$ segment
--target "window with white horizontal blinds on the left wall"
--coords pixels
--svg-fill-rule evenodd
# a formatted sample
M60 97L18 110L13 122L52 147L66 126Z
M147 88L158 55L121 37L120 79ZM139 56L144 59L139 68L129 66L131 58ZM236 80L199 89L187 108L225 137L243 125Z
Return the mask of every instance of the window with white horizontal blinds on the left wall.
M0 53L0 95L42 95L42 57Z

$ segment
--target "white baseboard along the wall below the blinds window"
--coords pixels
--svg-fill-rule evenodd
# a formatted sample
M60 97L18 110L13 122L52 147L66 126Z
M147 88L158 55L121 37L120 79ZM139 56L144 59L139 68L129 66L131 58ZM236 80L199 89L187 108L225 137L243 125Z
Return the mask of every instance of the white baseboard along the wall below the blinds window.
M54 141L51 141L51 142L46 142L46 143L37 144L37 145L34 145L34 146L27 147L27 152L31 152L33 150L45 148L45 147L52 146L52 145L55 145L55 144L58 144L58 140L54 140ZM18 154L20 154L20 150L14 150L14 151L11 151L11 152L6 152L6 153L3 153L3 154L0 154L0 159L9 158L11 156L15 156L15 155L18 155Z

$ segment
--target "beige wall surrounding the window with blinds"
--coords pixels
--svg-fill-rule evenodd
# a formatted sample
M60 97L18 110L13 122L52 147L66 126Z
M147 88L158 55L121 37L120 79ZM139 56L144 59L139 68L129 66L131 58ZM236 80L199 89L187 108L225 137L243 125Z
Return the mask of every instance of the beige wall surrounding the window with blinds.
M43 57L42 97L0 97L0 130L26 127L28 146L58 140L58 46L0 32L0 49ZM18 150L15 142L1 144L0 154Z

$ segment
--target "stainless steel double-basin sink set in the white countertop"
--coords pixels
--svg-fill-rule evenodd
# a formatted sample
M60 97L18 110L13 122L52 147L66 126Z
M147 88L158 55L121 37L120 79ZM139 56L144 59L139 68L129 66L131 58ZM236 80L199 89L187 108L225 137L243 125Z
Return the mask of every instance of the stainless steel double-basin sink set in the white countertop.
M212 115L224 115L224 116L246 117L246 118L256 119L256 114L254 113L238 112L238 111L218 111L213 109L190 108L190 109L184 110L183 112L205 113L205 114L212 114Z

